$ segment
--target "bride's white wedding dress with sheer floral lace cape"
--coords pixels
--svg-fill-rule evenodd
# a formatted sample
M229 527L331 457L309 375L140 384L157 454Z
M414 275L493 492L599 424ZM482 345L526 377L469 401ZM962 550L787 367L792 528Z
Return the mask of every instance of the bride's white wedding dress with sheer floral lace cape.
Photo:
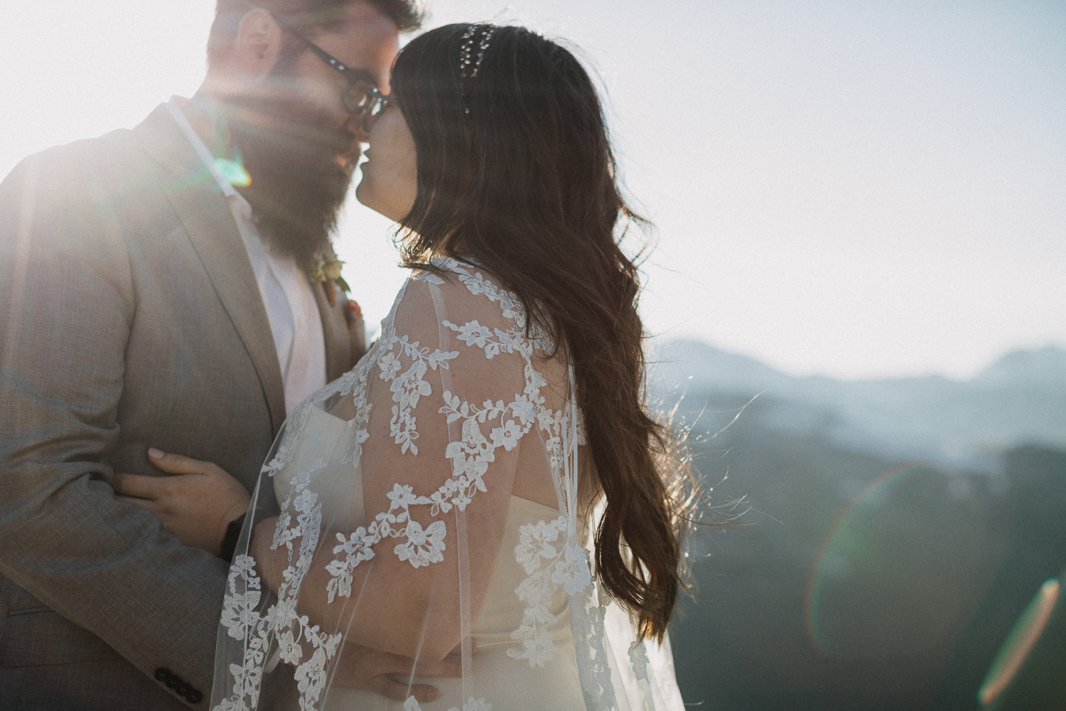
M211 708L286 706L272 689L294 680L300 709L681 711L668 641L637 641L591 569L564 349L529 338L521 304L475 266L434 264L279 436L230 568ZM269 591L247 539L278 508L288 565ZM410 591L432 604L405 605ZM311 596L343 621L307 614ZM384 648L373 635L389 626L452 630L462 678L416 676L440 691L421 705L344 688L344 641Z

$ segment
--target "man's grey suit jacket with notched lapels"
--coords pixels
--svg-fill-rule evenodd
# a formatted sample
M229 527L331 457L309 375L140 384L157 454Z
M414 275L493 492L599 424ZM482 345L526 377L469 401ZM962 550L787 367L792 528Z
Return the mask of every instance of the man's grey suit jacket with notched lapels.
M362 327L314 291L333 379ZM152 446L251 488L284 419L247 254L165 107L0 183L0 708L207 707L227 566L109 479L161 473Z

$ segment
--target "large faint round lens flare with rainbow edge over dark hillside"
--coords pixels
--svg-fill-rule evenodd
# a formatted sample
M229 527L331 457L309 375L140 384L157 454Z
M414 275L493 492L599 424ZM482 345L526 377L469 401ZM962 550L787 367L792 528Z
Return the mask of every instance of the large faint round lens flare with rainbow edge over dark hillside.
M987 523L968 485L906 465L842 508L808 576L812 648L838 659L920 658L965 626L988 575Z

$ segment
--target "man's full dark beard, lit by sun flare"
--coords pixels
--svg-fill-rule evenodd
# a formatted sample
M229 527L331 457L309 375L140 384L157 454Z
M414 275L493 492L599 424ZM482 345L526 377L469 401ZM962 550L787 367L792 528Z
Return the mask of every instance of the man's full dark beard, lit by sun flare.
M240 97L228 120L252 182L240 188L263 239L290 253L305 269L318 266L329 249L341 205L352 182L358 150L346 130L297 99ZM357 157L357 152L355 156Z

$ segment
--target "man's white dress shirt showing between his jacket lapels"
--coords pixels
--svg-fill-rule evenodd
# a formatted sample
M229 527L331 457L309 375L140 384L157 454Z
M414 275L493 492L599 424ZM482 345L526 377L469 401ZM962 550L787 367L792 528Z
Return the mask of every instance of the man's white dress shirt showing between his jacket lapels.
M178 104L178 98L172 98L166 108L219 183L233 214L274 336L288 417L300 403L326 384L325 336L311 282L292 255L272 248L263 241L252 217L252 206L215 166L214 157L193 130Z

